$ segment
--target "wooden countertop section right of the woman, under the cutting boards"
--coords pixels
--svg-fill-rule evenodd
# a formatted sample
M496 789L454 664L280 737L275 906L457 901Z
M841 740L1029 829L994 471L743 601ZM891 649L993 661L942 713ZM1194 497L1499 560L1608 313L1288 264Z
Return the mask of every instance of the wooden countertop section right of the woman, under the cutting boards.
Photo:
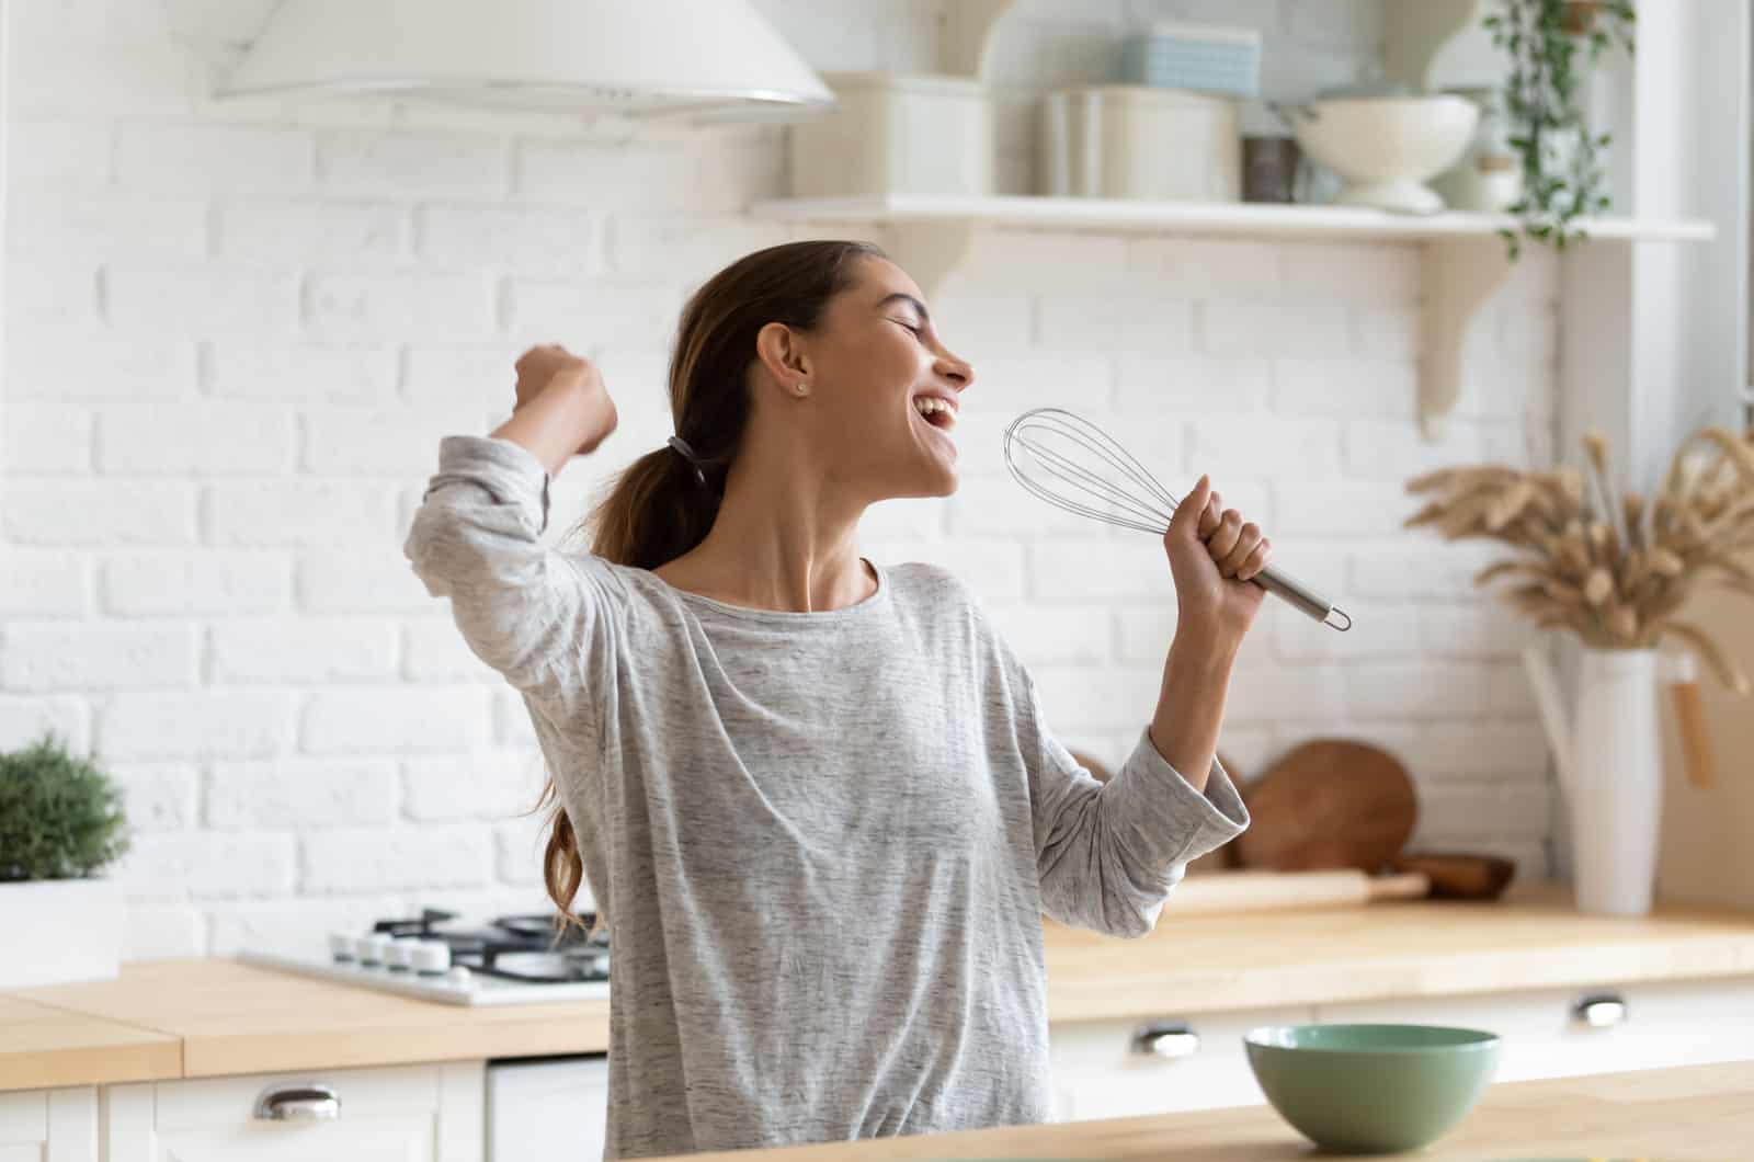
M1500 902L1175 916L1138 941L1047 923L1054 1022L1754 974L1754 915L1586 916L1568 885Z

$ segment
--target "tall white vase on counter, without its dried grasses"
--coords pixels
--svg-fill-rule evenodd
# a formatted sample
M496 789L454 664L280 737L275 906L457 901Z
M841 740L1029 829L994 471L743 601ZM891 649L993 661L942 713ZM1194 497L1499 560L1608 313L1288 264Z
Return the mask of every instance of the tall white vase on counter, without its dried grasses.
M1584 649L1566 714L1538 648L1522 655L1572 821L1577 907L1642 916L1656 890L1663 744L1656 649Z

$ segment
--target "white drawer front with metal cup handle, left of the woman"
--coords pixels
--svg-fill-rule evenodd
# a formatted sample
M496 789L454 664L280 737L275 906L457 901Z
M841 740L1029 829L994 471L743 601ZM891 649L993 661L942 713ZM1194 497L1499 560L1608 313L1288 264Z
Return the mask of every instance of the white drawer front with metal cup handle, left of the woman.
M482 1162L486 1062L112 1085L109 1162ZM335 1095L333 1120L296 1109ZM302 1094L303 1092L303 1094ZM260 1116L265 1097L286 1120ZM277 1099L277 1101L274 1101Z

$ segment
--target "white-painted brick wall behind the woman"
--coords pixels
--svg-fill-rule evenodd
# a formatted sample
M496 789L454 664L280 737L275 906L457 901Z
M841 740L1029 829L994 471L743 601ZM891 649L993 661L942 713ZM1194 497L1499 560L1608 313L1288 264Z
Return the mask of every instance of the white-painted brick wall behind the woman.
M944 4L759 0L817 67L898 70L931 68ZM560 535L668 434L686 293L819 232L740 212L784 193L774 126L216 104L253 32L219 7L14 5L0 748L53 727L123 783L132 955L540 907L524 707L402 558L438 437L509 411L524 344L598 356L624 421L558 484ZM995 54L1007 188L1031 181L1031 90L1098 79L1152 18L1258 25L1270 97L1380 47L1377 0L1030 0ZM1414 247L995 230L933 302L977 367L963 486L873 509L866 551L966 577L1061 737L1121 762L1173 634L1161 548L1037 504L998 441L1040 404L1112 423L1170 481L1212 472L1358 618L1340 637L1266 607L1223 741L1238 771L1373 739L1419 781L1419 843L1540 874L1522 627L1470 590L1480 551L1400 521L1414 472L1551 458L1554 293L1529 255L1426 446Z

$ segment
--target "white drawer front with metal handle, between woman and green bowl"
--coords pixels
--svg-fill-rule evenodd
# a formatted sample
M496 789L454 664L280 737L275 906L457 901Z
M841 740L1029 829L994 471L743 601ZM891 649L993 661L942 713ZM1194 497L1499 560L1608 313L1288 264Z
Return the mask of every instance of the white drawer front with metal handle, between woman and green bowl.
M1052 1025L1054 1113L1089 1122L1265 1102L1244 1034L1310 1020L1310 1009L1294 1008Z

